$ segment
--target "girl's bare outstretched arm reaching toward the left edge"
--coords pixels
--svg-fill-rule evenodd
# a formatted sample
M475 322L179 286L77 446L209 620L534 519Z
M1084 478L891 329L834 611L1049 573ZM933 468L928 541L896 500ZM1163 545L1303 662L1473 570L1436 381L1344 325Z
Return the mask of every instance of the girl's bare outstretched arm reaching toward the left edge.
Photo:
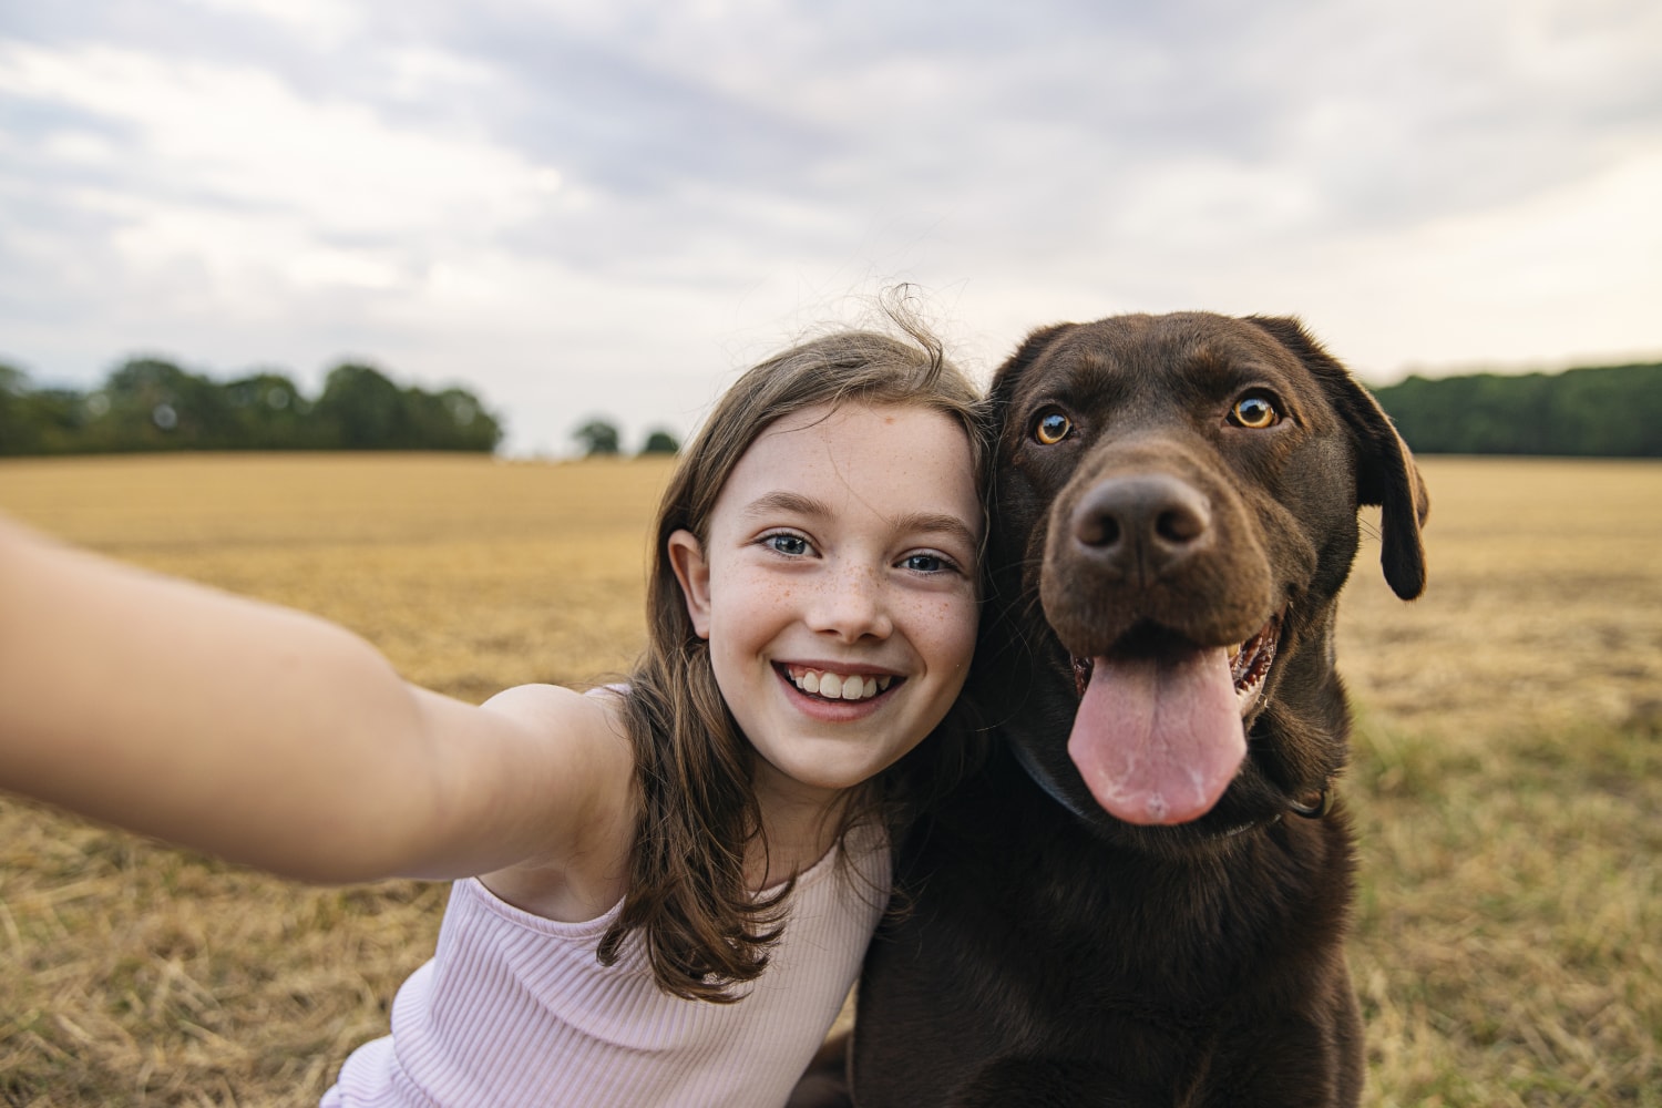
M302 880L580 857L630 802L608 698L485 706L324 620L0 517L0 787Z

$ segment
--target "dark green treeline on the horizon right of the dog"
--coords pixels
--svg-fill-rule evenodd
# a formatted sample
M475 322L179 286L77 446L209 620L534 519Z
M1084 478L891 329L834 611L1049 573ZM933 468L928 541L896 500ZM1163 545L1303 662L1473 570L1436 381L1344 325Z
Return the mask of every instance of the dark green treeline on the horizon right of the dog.
M1662 364L1409 377L1373 392L1419 453L1662 457Z

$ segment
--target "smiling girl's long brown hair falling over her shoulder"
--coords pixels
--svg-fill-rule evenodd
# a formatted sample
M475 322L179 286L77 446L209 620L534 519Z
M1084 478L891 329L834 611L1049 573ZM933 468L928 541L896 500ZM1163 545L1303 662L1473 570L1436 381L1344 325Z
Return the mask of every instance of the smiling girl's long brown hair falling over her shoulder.
M736 1000L733 987L766 968L794 885L793 879L774 895L758 897L745 884L746 847L760 841L766 849L751 786L755 754L716 686L708 643L693 631L668 538L685 528L708 545L710 513L750 445L781 417L821 404L892 404L949 415L969 437L979 487L987 434L977 390L937 341L899 322L911 342L844 331L750 369L716 402L663 493L647 585L648 646L625 696L642 814L628 894L598 957L612 965L638 929L653 977L668 993ZM954 708L929 739L853 791L839 844L858 822L892 832L904 812L957 777L976 741L961 713Z

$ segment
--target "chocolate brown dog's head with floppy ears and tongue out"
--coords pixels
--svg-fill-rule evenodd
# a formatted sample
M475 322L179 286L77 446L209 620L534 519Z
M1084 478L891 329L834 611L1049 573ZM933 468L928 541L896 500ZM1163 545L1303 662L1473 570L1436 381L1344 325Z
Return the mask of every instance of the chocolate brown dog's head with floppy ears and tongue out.
M1373 397L1296 321L1197 312L1035 331L991 400L976 688L1029 772L1150 841L1321 794L1361 505L1391 588L1424 586L1424 485Z

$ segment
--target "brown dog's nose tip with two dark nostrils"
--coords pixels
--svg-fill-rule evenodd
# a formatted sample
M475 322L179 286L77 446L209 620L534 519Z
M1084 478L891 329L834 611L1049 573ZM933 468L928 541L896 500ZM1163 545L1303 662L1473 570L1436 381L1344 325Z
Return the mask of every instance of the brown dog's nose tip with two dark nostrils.
M1212 507L1165 473L1112 477L1074 508L1074 538L1105 568L1152 581L1212 542Z

